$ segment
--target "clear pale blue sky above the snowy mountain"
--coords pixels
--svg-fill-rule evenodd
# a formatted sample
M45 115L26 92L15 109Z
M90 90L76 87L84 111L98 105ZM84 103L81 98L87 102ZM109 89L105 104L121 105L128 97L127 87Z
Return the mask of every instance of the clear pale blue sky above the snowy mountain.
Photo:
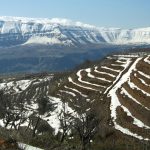
M0 16L68 18L105 27L150 26L150 0L0 0Z

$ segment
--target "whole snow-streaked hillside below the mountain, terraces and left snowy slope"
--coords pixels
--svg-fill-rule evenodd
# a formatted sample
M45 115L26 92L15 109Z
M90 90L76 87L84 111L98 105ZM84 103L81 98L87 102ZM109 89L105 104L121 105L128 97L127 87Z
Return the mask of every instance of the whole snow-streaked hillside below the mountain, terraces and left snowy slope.
M5 79L0 89L3 127L33 129L34 116L40 117L57 135L62 132L64 105L70 115L67 124L72 117L80 119L94 107L102 114L99 116L104 125L128 137L150 140L149 55L113 55L89 68L61 76Z

